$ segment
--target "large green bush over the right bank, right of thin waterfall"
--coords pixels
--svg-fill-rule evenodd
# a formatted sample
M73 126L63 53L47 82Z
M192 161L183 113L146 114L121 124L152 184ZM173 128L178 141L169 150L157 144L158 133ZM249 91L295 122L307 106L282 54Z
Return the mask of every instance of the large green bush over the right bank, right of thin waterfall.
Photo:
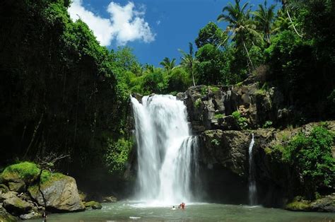
M331 156L334 134L324 127L314 127L310 134L294 136L283 150L283 160L302 175L307 197L317 189L334 186L335 160Z

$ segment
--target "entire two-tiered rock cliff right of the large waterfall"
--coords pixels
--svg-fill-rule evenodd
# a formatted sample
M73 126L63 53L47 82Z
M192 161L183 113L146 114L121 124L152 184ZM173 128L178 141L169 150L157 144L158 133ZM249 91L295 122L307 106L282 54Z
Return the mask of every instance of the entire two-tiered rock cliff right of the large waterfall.
M299 194L300 175L281 162L274 147L285 144L298 132L310 132L319 123L290 127L288 123L295 114L291 107L285 107L283 95L276 88L261 89L257 83L195 86L178 93L177 98L184 100L192 132L199 136L199 162L208 199L247 204L252 134L259 204L284 206ZM335 122L328 122L327 127L334 131Z

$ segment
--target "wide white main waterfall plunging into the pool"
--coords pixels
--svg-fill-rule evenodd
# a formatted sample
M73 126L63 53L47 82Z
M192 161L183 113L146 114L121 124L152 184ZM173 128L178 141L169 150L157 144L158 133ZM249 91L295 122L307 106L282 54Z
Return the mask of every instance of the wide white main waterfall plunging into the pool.
M137 197L158 204L192 201L198 172L196 137L191 136L184 103L172 95L131 98L138 173Z

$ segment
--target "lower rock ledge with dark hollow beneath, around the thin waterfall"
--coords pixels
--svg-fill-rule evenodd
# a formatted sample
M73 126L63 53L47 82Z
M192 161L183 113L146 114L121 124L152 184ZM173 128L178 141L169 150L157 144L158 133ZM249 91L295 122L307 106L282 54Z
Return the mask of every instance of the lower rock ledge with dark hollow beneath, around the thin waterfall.
M247 197L248 150L252 134L254 134L252 164L254 164L254 175L259 189L259 204L285 206L294 195L299 194L304 183L288 164L281 162L276 146L287 143L299 133L309 134L314 127L319 125L325 125L329 131L335 132L335 121L329 121L327 124L310 123L295 129L283 130L274 128L242 131L211 129L201 132L198 136L199 161L204 174L212 175L206 178L207 189L209 192L211 189L222 190L221 199L227 199L228 202L247 203L247 199L243 197ZM335 157L334 148L333 157ZM231 186L230 183L232 183ZM217 192L213 195L220 196ZM304 201L299 204L286 205L286 209L295 210L295 206L301 204L304 204ZM308 207L303 208L305 211L335 212L334 195L309 201L307 205Z

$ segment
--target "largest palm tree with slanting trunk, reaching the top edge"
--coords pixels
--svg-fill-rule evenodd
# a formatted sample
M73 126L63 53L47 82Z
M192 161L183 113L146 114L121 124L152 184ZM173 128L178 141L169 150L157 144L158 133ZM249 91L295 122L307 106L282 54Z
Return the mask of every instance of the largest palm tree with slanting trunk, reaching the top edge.
M250 8L247 9L249 2L240 6L241 0L235 0L235 5L228 3L222 9L222 13L218 16L218 22L228 22L227 32L231 33L230 38L236 42L237 47L244 47L249 63L254 69L252 59L249 56L249 51L245 42L247 37L252 37L254 40L263 40L263 37L257 32L256 25L250 19ZM227 14L225 14L227 12Z

